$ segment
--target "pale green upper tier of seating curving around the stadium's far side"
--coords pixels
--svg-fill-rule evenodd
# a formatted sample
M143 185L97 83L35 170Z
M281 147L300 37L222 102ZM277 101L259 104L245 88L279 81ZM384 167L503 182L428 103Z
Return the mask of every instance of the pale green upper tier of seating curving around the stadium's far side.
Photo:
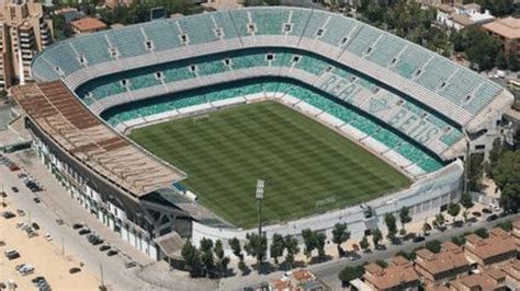
M260 47L261 42L255 39L263 35L280 36L281 46L289 39L285 35L307 39L302 44L308 45L308 40L321 43L323 45L316 47L328 46L326 49L328 53L323 54L331 60L336 60L336 56L343 50L343 54L362 57L363 60L380 66L382 70L389 70L381 73L383 82L385 82L384 75L393 71L396 75L406 78L429 91L427 94L431 94L431 102L425 97L419 100L427 106L438 107L442 104L445 108L464 110L470 117L481 113L502 91L499 85L485 78L395 35L339 14L299 8L217 11L79 36L55 44L42 53L33 62L33 72L36 79L53 80L68 78L92 66L115 61L115 65L103 66L101 69L114 70L120 66L118 59L149 56L185 45L211 44L221 39L235 40L237 37L242 40L250 38L252 42L245 44ZM184 39L181 40L182 38ZM294 44L293 42L291 46ZM325 51L324 49L321 50ZM212 53L211 49L207 53ZM154 57L149 59L157 60ZM306 61L298 66L306 66ZM332 63L332 67L336 66L339 63ZM363 72L365 67L359 66L353 69ZM83 80L81 77L76 77L75 80L78 79ZM388 84L395 85L395 82ZM436 100L437 94L443 101ZM464 125L470 120L468 116L462 120L457 120L457 116L451 117L455 123Z

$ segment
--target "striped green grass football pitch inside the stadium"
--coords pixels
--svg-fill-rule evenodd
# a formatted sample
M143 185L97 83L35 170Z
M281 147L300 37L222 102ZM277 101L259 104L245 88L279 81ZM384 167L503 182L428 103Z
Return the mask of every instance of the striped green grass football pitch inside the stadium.
M188 173L199 201L236 226L357 205L410 185L398 171L324 125L275 102L135 129L129 138Z

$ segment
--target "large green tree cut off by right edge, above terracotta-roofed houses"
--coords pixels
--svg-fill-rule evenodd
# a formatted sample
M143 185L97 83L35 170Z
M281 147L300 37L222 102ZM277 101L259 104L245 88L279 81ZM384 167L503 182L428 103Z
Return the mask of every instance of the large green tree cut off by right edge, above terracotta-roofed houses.
M505 152L497 161L493 178L501 191L501 207L506 211L518 212L520 207L520 151Z

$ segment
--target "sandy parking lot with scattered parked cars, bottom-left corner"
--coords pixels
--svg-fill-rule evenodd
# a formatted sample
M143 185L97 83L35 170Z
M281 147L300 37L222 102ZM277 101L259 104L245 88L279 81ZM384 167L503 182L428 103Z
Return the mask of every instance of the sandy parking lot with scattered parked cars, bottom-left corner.
M77 258L69 254L64 256L61 249L53 244L55 238L52 234L31 220L29 213L18 209L12 202L0 207L2 214L14 214L7 216L11 218L0 217L0 283L9 287L10 282L14 282L18 290L35 290L37 283L53 290L98 289L99 279L84 269ZM30 226L33 223L36 223L37 230ZM13 252L19 256L8 257Z

